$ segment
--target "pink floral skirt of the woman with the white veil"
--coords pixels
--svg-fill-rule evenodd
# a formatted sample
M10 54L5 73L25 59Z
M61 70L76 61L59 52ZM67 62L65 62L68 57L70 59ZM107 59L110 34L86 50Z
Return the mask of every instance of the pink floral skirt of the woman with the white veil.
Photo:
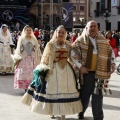
M34 53L28 56L23 52L22 58L15 69L14 89L27 89L33 79L33 70L36 67Z

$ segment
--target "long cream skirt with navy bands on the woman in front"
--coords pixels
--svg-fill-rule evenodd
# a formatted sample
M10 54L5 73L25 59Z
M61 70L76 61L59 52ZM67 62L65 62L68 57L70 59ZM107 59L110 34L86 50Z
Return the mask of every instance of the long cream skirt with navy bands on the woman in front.
M64 69L55 63L46 81L32 81L22 102L30 106L31 111L45 115L71 115L82 111L75 76L68 63Z

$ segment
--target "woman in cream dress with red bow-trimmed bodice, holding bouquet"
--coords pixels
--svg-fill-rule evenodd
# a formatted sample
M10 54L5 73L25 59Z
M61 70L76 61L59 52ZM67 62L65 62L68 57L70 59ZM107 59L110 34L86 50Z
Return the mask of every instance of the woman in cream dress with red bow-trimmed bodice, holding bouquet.
M65 38L66 30L59 26L45 47L40 65L34 70L41 71L42 65L49 66L46 85L40 88L31 84L22 98L24 104L30 105L31 111L62 115L61 120L65 119L64 115L82 111L73 69L68 62L71 45Z

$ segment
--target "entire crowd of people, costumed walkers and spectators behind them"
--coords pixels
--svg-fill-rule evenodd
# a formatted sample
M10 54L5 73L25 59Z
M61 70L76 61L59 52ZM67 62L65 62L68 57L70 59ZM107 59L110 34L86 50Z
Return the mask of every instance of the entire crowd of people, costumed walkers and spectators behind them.
M39 114L84 113L92 97L93 120L103 120L103 96L110 95L120 33L99 31L89 21L82 32L63 25L46 31L26 25L22 31L0 28L0 73L14 73L14 89L24 89L21 102Z

